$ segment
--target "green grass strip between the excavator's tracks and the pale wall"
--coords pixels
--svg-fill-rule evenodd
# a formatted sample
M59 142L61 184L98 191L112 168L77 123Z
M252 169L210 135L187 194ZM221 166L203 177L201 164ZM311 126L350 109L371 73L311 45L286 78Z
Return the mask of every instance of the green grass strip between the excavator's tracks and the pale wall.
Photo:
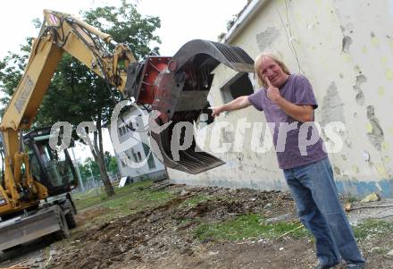
M113 197L107 197L105 193L95 196L86 194L85 196L79 195L77 198L74 197L74 201L79 210L91 206L109 208L109 212L103 217L106 220L111 220L116 217L133 214L147 207L162 205L174 197L166 190L155 191L149 189L148 187L152 184L153 181L141 181L122 188L116 188Z

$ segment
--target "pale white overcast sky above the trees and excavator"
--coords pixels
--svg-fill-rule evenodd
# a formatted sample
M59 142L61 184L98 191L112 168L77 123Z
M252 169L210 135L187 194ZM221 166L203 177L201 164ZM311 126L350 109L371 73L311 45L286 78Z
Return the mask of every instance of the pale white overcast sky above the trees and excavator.
M160 17L161 28L155 32L162 40L162 44L158 45L160 54L171 56L189 40L202 38L216 41L222 32L226 32L227 22L243 9L247 0L129 0L128 3L137 4L139 13L143 15ZM36 18L42 21L44 9L78 15L81 10L120 4L120 0L1 1L0 10L3 13L0 27L3 38L0 58L3 59L8 51L18 52L25 38L38 36L38 29L34 28L32 21ZM108 137L105 132L105 150L113 154ZM88 157L86 149L78 150L77 158L83 160Z

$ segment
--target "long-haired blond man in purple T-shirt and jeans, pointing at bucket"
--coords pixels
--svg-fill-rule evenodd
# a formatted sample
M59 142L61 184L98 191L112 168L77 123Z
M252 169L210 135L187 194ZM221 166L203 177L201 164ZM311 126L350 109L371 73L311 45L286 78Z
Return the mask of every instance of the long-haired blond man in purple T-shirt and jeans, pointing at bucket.
M338 265L340 256L346 260L347 268L364 268L364 258L339 204L322 139L306 147L306 154L299 149L299 127L303 122L314 121L314 109L318 107L310 82L302 75L290 74L285 64L270 54L255 59L255 75L262 89L212 108L213 116L254 105L265 113L267 122L275 123L272 136L280 168L300 220L315 238L319 259L315 268Z

